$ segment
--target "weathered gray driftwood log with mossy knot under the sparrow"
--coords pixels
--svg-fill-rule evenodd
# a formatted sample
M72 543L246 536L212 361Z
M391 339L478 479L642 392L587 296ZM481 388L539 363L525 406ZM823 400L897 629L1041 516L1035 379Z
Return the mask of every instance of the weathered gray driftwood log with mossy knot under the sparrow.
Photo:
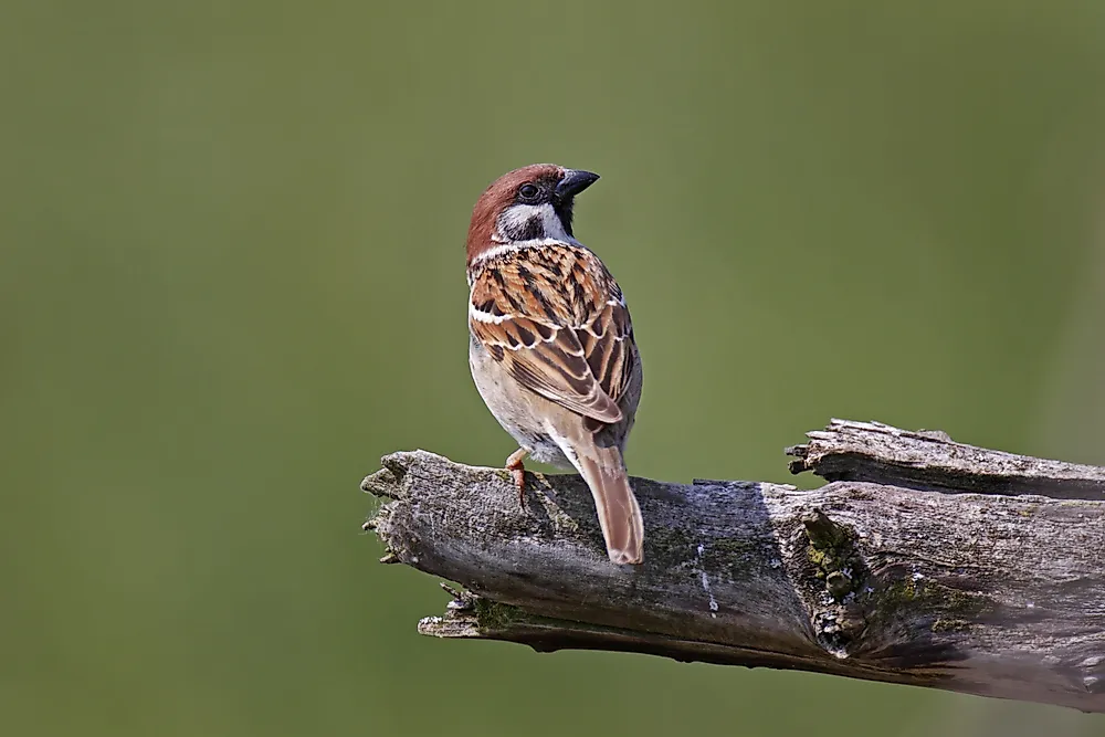
M788 452L834 480L814 491L634 478L643 566L608 561L578 476L527 474L523 509L505 471L424 451L365 480L388 499L365 527L463 587L424 634L1105 713L1105 470L876 423L809 436Z

